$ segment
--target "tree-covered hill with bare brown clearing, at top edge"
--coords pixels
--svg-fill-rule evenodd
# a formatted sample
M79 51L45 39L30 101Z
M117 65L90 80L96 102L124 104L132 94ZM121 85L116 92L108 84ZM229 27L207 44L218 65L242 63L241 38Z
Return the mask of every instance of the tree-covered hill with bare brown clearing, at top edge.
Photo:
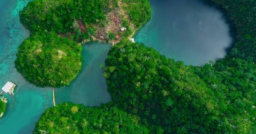
M150 17L148 0L34 0L20 12L20 21L31 34L51 31L78 43L116 43Z

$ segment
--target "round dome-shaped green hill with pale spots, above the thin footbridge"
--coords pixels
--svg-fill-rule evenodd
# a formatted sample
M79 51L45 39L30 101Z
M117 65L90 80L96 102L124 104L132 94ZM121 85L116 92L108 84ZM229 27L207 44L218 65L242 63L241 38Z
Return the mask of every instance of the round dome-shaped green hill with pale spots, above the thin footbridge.
M81 70L81 50L81 45L57 34L35 34L18 47L15 67L36 86L69 85Z

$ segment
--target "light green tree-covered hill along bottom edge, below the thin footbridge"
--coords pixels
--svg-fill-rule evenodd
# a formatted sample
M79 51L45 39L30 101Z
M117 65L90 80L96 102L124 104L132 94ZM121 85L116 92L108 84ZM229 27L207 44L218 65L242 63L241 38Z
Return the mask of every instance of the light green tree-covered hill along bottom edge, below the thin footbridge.
M34 134L148 134L136 115L110 104L88 108L63 103L46 109L36 123Z

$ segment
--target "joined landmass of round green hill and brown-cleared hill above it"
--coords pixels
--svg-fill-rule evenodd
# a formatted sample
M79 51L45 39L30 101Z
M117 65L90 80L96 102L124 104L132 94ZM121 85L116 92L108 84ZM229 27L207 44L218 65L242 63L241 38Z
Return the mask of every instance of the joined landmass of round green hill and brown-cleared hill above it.
M15 67L36 86L69 85L81 70L81 43L118 42L150 17L148 0L33 0L20 11L31 36L19 46Z

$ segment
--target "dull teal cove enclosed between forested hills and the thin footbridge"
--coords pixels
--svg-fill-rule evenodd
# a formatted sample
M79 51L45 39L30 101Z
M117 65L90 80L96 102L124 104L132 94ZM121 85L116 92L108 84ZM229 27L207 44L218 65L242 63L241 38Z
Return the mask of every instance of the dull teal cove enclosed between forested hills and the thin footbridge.
M69 86L56 89L57 104L71 101L92 107L111 100L103 70L99 67L107 58L110 48L106 43L100 42L83 46L82 71Z

